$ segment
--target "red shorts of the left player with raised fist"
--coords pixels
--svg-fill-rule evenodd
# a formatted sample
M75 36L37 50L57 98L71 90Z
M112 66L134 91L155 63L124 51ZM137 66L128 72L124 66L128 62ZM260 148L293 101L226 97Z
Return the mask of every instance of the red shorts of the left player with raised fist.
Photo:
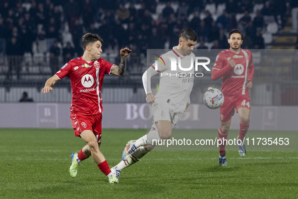
M84 130L91 130L96 136L98 145L101 143L101 113L97 115L71 114L72 125L76 136Z

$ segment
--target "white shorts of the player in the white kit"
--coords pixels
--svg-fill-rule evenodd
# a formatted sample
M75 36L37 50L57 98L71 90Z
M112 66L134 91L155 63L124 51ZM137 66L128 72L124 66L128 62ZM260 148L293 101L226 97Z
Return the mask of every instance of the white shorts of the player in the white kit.
M156 122L159 120L167 120L172 123L172 129L175 127L176 123L180 120L183 113L173 112L167 103L154 102L152 104L153 112L153 125L152 128L157 129Z

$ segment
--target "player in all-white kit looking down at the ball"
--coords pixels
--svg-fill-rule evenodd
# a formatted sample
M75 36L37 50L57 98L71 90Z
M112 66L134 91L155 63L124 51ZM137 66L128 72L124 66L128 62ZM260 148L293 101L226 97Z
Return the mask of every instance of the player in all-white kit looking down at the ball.
M143 74L146 102L152 104L154 121L146 135L130 140L124 148L123 161L113 167L117 178L121 170L138 162L154 148L153 140L169 139L176 122L190 105L190 93L194 85L194 67L191 64L195 61L192 52L196 43L196 33L189 28L183 29L179 34L179 44L160 56L163 64L158 62L157 68L151 65ZM158 73L159 90L154 96L151 91L151 77Z

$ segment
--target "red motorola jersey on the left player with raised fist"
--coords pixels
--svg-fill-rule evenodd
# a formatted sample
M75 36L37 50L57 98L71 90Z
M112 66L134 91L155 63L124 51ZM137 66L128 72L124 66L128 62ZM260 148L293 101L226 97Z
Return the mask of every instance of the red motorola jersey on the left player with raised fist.
M94 115L101 113L101 86L105 74L110 74L112 66L100 58L87 62L82 57L65 64L55 75L62 79L68 76L72 86L71 113Z

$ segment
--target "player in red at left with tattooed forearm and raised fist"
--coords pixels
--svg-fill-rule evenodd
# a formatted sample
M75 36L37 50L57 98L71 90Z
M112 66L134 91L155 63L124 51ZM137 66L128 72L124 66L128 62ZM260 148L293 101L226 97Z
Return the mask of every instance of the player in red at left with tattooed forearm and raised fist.
M126 57L131 50L123 48L120 51L121 62L118 66L100 58L102 39L97 34L87 33L82 37L84 54L65 64L61 70L49 78L41 92L48 93L53 85L68 76L72 87L71 119L75 135L87 143L81 151L73 153L70 174L76 177L81 161L92 156L94 162L109 179L110 183L118 183L114 172L99 151L101 143L102 99L101 86L105 74L125 75Z

